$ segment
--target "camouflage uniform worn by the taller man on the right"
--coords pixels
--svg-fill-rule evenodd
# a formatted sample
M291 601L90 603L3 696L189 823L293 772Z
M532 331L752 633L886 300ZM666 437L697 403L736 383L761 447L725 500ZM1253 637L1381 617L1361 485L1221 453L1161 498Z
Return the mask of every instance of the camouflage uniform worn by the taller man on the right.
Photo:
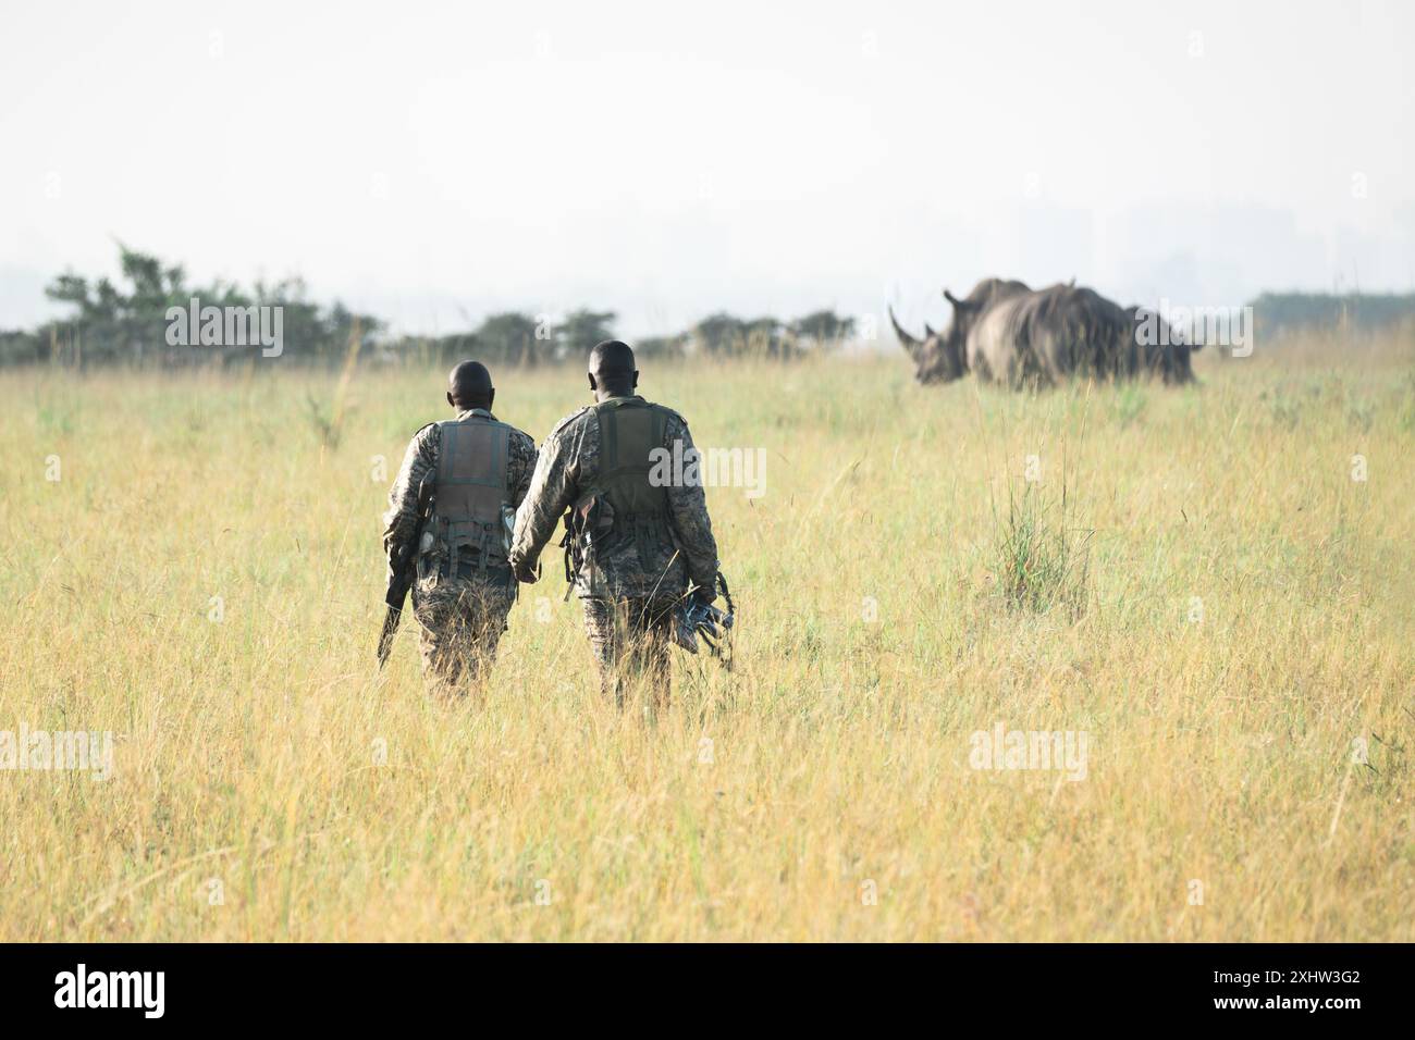
M525 504L516 512L514 563L533 566L566 509L589 516L589 542L570 576L584 610L584 630L600 671L600 685L623 699L623 681L647 675L659 698L668 693L668 644L674 610L688 583L712 589L717 576L717 542L699 483L668 480L658 490L640 490L648 502L638 514L596 516L597 499L614 474L601 474L606 426L601 412L617 405L652 410L662 424L657 446L678 457L693 451L681 415L642 398L611 398L583 408L546 437ZM610 422L608 436L616 436ZM652 427L657 430L657 427ZM654 443L649 437L648 443ZM614 453L614 447L608 449ZM638 466L638 461L634 463ZM620 468L624 460L620 460ZM657 501L652 501L657 497Z

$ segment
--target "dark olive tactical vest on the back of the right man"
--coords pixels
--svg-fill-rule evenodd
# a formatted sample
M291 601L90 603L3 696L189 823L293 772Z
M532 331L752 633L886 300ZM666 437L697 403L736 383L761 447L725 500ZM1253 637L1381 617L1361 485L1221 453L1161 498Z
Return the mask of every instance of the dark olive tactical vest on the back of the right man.
M649 453L664 447L669 412L642 398L611 398L596 405L594 415L600 423L596 490L610 505L613 541L633 539L647 565L652 543L672 541L668 488L649 483Z

